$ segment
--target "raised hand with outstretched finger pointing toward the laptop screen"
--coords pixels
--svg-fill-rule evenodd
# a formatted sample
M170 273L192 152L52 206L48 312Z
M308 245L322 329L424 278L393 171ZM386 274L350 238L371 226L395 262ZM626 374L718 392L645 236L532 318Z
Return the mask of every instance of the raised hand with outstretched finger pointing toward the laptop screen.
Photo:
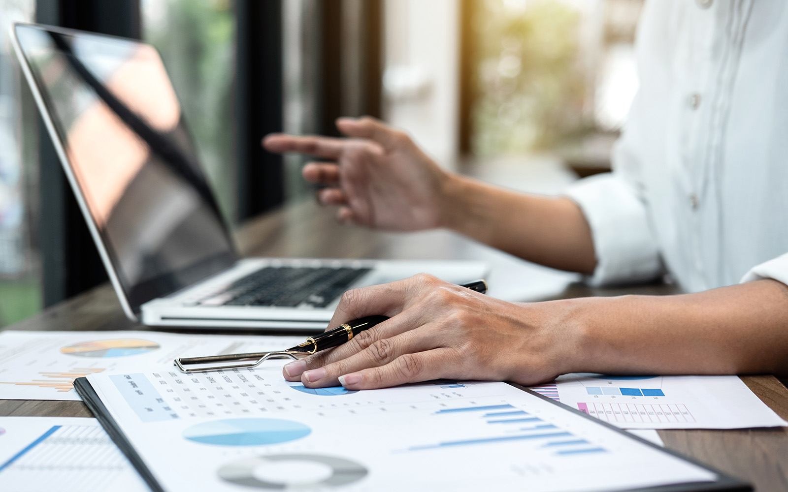
M299 152L332 162L311 162L303 176L326 185L322 205L340 205L344 222L388 231L437 228L445 207L442 171L403 131L370 117L340 118L337 128L351 139L272 134L271 152Z

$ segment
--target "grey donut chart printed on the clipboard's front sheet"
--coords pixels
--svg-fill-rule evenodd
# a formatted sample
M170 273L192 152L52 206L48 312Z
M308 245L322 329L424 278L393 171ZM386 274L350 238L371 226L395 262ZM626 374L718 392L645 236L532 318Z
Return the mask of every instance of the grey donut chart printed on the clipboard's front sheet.
M316 481L293 480L292 482L274 482L273 480L269 481L255 475L255 468L286 464L292 461L307 461L314 464L322 464L328 466L331 473L328 477ZM225 464L219 468L218 471L219 477L229 483L265 490L303 490L307 487L316 486L341 486L357 482L364 478L367 473L369 472L366 468L355 461L325 454L300 453L272 454L268 456L246 458Z

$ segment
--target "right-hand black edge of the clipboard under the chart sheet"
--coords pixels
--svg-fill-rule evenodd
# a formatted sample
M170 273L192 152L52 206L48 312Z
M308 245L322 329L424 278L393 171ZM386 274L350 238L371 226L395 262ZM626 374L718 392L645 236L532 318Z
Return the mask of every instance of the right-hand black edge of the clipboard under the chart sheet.
M540 398L541 400L549 401L552 405L558 405L562 409L566 409L569 412L573 412L576 415L582 416L585 419L592 420L593 422L602 425L603 427L608 427L611 431L616 431L619 434L626 435L626 437L634 439L636 441L642 442L643 444L650 446L654 449L659 449L663 453L671 454L672 456L677 457L682 461L688 461L704 470L708 470L709 472L716 473L717 481L716 482L692 482L692 483L674 483L672 485L661 485L661 486L652 486L652 487L644 487L640 489L624 489L622 492L706 492L711 490L719 490L724 492L752 492L753 486L749 483L743 482L740 479L736 479L727 473L720 472L716 468L712 468L708 466L708 464L701 463L700 461L695 460L691 457L686 457L682 453L678 453L673 449L663 448L661 446L657 446L653 442L649 442L644 438L641 438L637 435L630 434L627 431L619 427L615 427L613 424L609 424L604 420L599 420L596 417L590 416L585 412L581 412L578 409L573 409L569 405L564 405L559 401L555 401L552 398L546 397L544 394L538 394L536 391L530 390L524 386L520 386L517 383L511 383L506 381L506 383L510 386L517 388L518 390L523 390L528 394L533 394L533 396Z

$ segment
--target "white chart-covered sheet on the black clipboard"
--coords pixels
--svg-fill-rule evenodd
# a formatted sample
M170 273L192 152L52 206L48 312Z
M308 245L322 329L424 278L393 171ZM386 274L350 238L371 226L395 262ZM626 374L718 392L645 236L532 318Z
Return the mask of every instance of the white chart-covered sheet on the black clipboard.
M506 383L312 390L284 381L282 364L87 379L169 492L618 490L716 479Z

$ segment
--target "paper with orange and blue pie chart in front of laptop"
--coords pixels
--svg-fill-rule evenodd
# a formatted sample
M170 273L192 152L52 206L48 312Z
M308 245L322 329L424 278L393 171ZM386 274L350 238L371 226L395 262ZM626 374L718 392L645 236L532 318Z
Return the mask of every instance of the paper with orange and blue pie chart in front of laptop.
M79 400L74 379L172 368L176 357L282 350L303 336L185 335L158 331L2 331L0 400Z

